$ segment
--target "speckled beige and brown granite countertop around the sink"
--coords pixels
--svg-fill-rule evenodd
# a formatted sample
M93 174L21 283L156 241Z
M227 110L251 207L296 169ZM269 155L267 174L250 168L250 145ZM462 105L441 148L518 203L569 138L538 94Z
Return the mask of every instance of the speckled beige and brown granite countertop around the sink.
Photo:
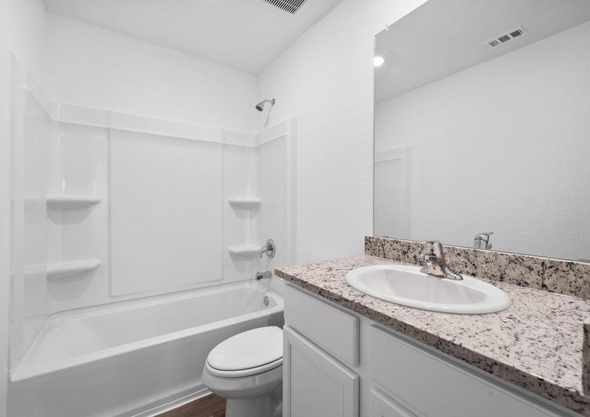
M512 305L484 315L435 313L379 300L349 286L347 272L393 264L362 255L277 268L278 277L464 360L487 373L590 416L582 384L584 321L590 300L489 281Z

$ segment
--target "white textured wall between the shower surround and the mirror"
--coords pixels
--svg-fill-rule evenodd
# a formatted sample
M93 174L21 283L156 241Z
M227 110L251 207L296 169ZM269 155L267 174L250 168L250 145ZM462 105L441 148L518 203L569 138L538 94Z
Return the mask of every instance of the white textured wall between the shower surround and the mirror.
M363 252L372 234L373 44L423 0L344 0L260 76L270 121L297 117L297 261Z

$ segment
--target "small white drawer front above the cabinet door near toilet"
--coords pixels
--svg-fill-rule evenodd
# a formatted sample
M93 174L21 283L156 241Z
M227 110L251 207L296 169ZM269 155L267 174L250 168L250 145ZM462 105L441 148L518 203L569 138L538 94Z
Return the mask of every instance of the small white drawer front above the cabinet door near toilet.
M287 284L285 321L337 359L359 364L359 318L354 314Z

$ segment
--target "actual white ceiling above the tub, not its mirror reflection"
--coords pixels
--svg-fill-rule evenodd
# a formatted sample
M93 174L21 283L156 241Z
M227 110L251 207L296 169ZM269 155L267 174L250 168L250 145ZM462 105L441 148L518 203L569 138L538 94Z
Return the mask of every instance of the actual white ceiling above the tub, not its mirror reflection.
M50 12L258 74L341 0L44 0Z

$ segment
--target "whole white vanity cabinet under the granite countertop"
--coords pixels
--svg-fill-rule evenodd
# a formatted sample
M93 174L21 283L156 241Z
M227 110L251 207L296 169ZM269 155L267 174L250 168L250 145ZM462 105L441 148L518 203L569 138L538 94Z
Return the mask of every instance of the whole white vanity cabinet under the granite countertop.
M286 417L577 415L293 284L285 322Z

